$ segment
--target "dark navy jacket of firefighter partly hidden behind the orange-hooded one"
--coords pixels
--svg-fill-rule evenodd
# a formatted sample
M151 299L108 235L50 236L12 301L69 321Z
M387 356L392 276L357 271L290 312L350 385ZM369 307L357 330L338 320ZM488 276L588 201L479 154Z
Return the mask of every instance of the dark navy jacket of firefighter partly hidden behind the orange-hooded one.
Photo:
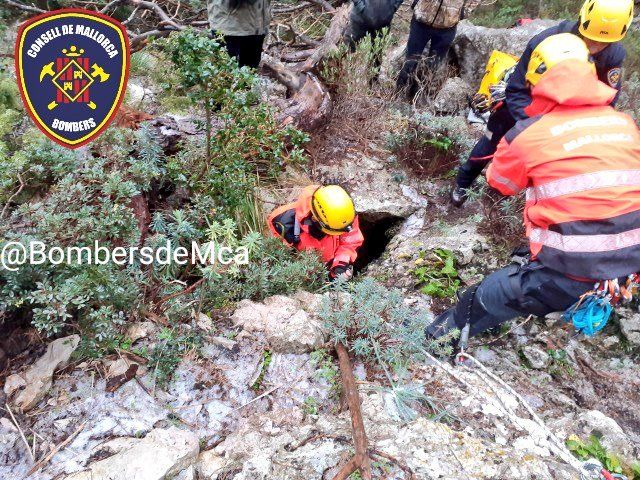
M507 84L506 105L509 108L511 116L516 121L528 118L524 109L531 103L531 89L527 86L525 75L527 74L527 67L529 66L531 53L545 38L557 35L558 33L573 33L577 35L578 22L565 20L555 27L551 27L540 32L529 40L527 48L520 57L520 61L516 66L516 70L509 78L509 83ZM622 86L621 67L626 55L627 52L620 43L612 43L602 52L593 56L596 63L598 78L618 91ZM617 98L618 97L616 96L612 105L615 105Z

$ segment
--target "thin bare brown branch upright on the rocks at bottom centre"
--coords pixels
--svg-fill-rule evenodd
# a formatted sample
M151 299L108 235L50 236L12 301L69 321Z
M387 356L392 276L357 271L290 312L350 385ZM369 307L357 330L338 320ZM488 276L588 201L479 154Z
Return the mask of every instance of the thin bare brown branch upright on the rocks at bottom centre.
M367 434L364 429L362 412L360 411L360 395L358 394L356 379L353 376L349 352L342 343L336 345L336 352L338 353L342 386L349 405L349 414L351 415L353 445L356 449L356 454L340 469L336 476L333 477L333 480L346 480L356 470L360 470L363 480L371 480L371 458L369 457Z

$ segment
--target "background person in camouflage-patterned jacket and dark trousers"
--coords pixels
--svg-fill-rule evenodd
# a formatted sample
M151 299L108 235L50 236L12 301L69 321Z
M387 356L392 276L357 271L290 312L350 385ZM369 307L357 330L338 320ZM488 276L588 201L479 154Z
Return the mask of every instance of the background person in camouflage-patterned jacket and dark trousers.
M446 58L456 36L458 23L465 15L480 5L480 0L415 0L413 18L407 41L407 55L398 76L398 90L407 89L407 95L415 94L413 76L429 46L428 66L437 68Z

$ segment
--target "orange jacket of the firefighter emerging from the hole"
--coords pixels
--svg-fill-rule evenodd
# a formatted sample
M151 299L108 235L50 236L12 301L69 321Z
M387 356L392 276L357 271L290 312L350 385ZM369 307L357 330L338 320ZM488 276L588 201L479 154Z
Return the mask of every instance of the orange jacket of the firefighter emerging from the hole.
M311 217L311 197L319 187L320 185L310 185L302 191L297 201L276 208L267 219L269 230L274 236L281 237L285 244L295 246L300 251L319 251L322 261L332 262L332 267L352 264L358 256L358 248L364 242L357 216L350 232L324 235L321 239L313 237L309 232L309 225L305 224L305 220ZM295 220L300 225L300 241L296 244L293 242Z

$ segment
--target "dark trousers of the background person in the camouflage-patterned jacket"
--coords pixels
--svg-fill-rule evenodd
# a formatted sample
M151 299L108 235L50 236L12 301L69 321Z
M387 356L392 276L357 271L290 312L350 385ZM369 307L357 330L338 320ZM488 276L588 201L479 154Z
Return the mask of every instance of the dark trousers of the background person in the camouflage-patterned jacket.
M457 28L457 25L451 28L433 28L419 22L415 17L411 19L407 56L398 76L397 86L399 89L412 85L413 74L429 42L431 43L426 55L427 65L430 68L437 68L445 60L456 36Z

